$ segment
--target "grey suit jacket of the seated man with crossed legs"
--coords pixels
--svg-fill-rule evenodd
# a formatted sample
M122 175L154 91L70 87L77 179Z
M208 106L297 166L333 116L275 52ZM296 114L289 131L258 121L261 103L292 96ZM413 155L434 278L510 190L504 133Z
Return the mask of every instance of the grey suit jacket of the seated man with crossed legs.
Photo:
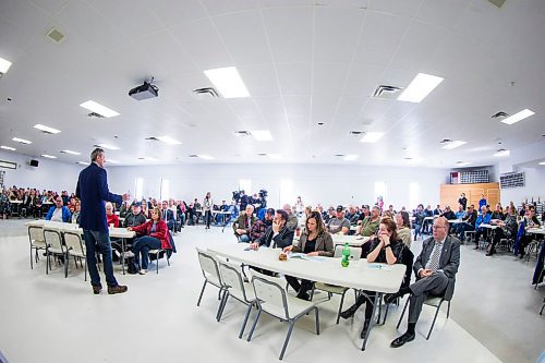
M426 264L429 261L432 252L434 251L435 240L433 237L426 239L422 243L422 252L419 257L414 262L413 269L416 275L416 279L419 277L419 269L426 268ZM458 273L458 266L460 266L460 240L447 235L447 239L443 243L441 256L439 258L439 269L443 270L445 276L448 277L448 286L445 292L445 299L450 300L452 298L452 293L455 292L455 281L456 274Z

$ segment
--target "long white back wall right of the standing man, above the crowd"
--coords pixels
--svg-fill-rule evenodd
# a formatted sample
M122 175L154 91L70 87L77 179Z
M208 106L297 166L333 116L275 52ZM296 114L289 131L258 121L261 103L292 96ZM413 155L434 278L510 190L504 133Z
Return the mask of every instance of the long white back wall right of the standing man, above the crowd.
M439 185L446 182L448 171L425 168L392 168L331 165L185 165L154 167L113 167L109 170L110 190L135 193L136 178L144 180L144 196L159 196L161 178L170 182L174 198L199 201L210 191L216 203L229 201L231 192L239 189L240 179L252 180L252 193L268 191L269 206L284 202L294 203L301 195L303 203L324 206L342 204L372 204L375 182L387 185L385 204L396 208L410 206L409 184L420 185L420 201L434 204L439 199ZM292 197L280 201L281 181L290 179Z

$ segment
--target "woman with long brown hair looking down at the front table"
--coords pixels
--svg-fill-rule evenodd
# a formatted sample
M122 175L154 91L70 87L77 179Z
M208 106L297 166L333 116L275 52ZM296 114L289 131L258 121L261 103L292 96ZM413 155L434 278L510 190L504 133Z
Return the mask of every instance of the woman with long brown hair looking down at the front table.
M334 255L334 241L331 234L324 229L322 221L322 214L319 211L312 211L305 221L305 231L301 234L299 245L293 244L286 246L283 252L300 252L308 256L326 256L332 257ZM298 292L298 298L310 300L308 290L313 287L313 281L299 279L293 276L286 276L286 280Z

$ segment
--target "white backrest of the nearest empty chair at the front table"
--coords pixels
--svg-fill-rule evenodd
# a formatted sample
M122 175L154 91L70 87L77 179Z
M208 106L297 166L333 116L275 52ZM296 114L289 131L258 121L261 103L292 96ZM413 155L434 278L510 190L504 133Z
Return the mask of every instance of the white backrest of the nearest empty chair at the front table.
M257 303L263 310L289 320L288 301L282 286L286 285L286 280L252 270L252 285Z

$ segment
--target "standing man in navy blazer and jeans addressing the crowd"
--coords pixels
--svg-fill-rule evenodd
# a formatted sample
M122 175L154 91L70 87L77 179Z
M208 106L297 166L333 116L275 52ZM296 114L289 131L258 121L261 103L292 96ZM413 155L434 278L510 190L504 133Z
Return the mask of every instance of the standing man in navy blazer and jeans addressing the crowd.
M90 161L87 168L80 172L76 196L82 201L80 214L80 227L83 229L85 246L87 250L87 268L90 276L93 293L98 294L102 289L100 276L98 275L96 247L102 254L104 273L108 283L108 293L123 293L126 286L118 285L113 276L113 264L111 262L111 245L108 226L106 223L105 201L118 203L128 201L129 194L118 195L108 191L108 181L104 165L106 157L104 149L95 148L90 153Z

